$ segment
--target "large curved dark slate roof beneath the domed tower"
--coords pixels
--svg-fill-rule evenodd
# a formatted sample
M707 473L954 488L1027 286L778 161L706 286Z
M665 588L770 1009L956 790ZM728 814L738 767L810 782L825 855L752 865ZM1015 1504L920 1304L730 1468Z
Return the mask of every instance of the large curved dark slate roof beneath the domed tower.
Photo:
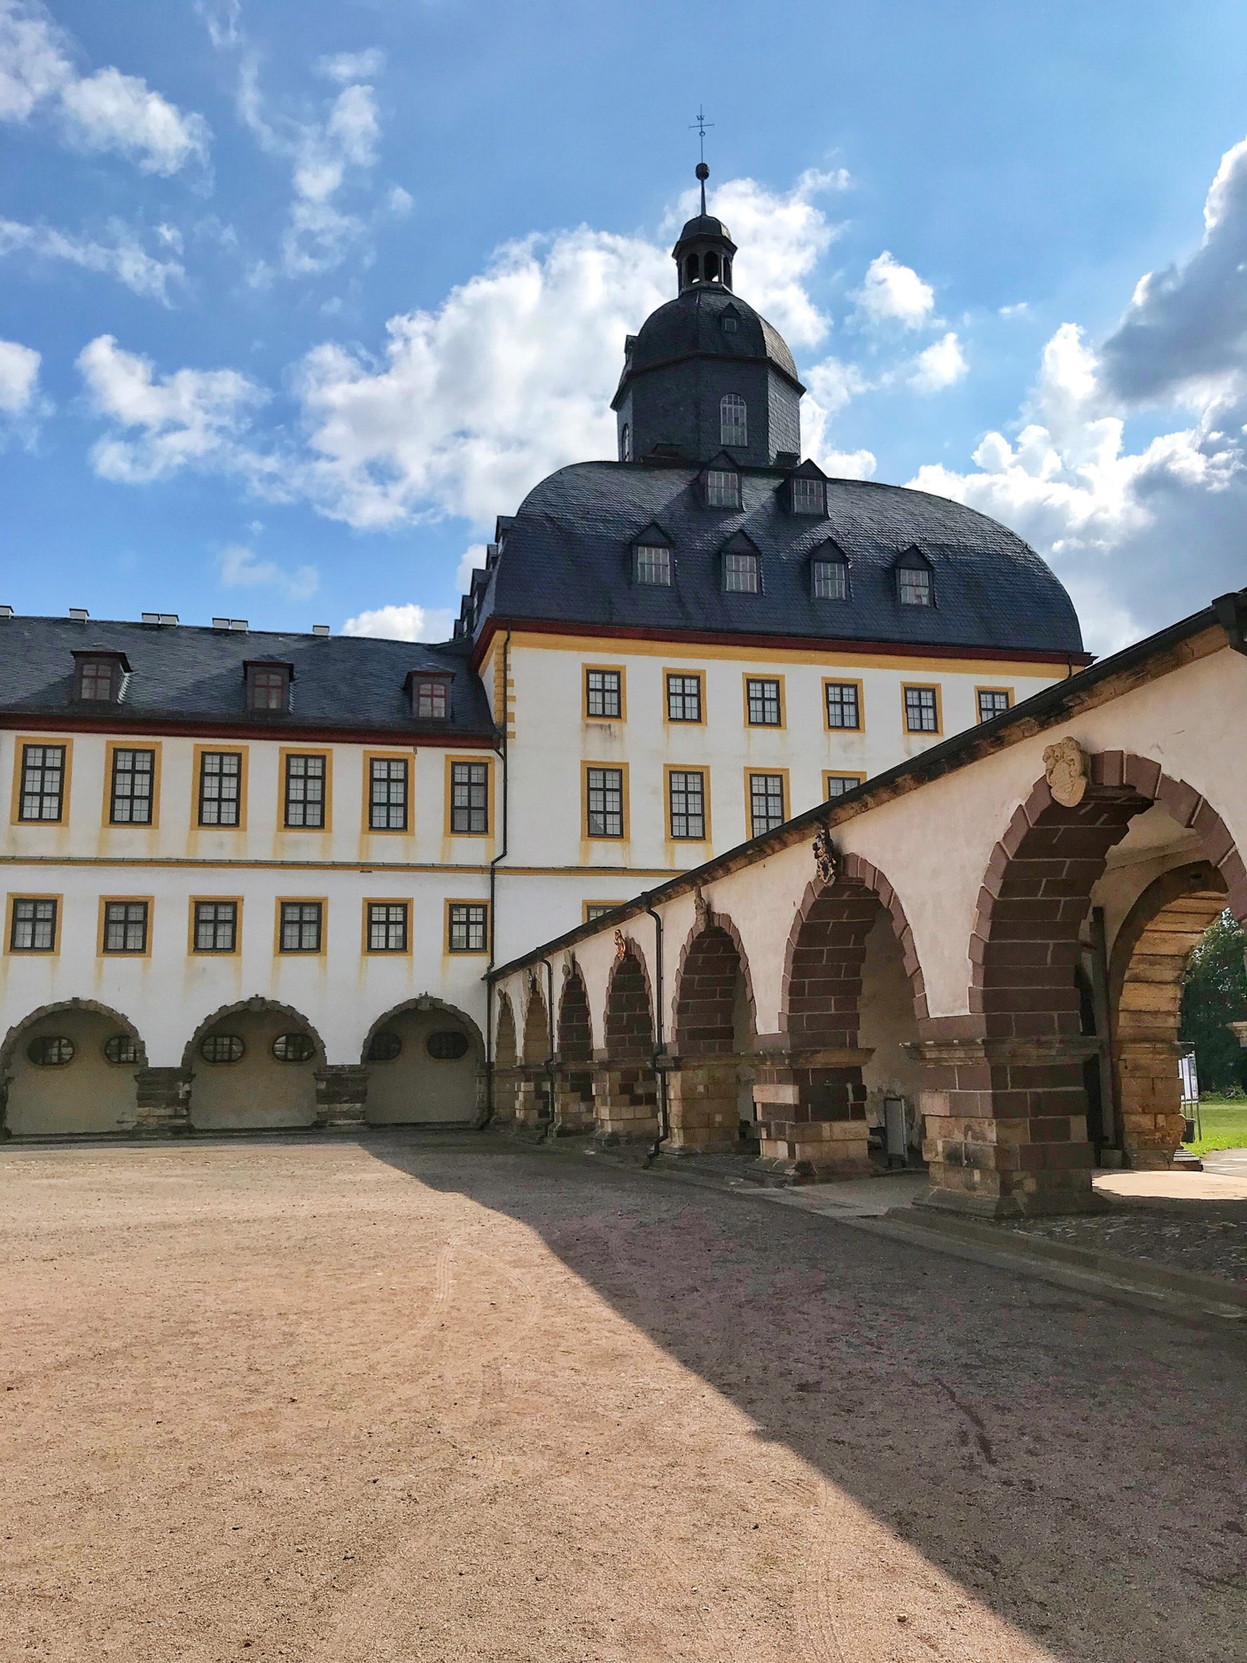
M502 552L482 582L476 632L495 615L595 627L803 635L909 645L1081 654L1074 605L1041 557L996 521L946 497L831 479L825 519L783 507L786 474L742 472L742 509L708 509L700 469L579 462L544 479L500 522ZM632 580L632 545L650 524L675 547L670 589ZM762 555L758 595L725 594L720 550L745 532ZM833 539L850 599L815 600L808 560ZM901 605L893 564L918 547L934 607Z

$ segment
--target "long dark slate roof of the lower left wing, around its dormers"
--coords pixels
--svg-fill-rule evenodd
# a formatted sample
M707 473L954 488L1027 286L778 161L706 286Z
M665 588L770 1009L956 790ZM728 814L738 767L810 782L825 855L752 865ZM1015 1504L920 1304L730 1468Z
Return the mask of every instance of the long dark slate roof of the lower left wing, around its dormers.
M80 703L73 697L71 655L91 647L123 652L130 660L131 674L118 705ZM485 693L467 655L467 642L426 645L352 635L13 617L0 620L0 720L53 717L70 725L75 717L103 717L118 728L228 723L256 732L314 728L402 740L492 738ZM289 712L248 710L246 662L293 665ZM454 674L451 720L412 717L404 692L409 670Z

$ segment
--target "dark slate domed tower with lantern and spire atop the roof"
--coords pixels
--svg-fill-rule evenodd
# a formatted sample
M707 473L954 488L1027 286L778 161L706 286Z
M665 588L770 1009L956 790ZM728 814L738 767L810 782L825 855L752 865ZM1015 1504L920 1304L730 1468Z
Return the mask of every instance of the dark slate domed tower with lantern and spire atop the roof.
M801 454L801 394L778 329L732 291L737 244L705 211L710 170L698 163L702 213L672 249L677 298L624 348L612 409L622 462L708 462L727 451L752 467Z

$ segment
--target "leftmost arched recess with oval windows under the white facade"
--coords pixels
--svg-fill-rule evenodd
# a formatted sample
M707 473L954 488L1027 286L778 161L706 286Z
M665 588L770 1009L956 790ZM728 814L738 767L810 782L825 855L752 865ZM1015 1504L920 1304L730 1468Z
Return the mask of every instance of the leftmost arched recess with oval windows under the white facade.
M95 999L42 1004L0 1044L3 1126L15 1137L128 1131L146 1049L130 1018Z

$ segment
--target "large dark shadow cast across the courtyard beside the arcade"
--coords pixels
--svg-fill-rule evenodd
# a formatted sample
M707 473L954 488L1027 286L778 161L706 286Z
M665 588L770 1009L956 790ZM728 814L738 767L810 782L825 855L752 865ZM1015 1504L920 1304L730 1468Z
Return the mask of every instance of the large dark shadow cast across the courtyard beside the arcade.
M1056 1658L1242 1658L1242 1342L580 1149L361 1142L539 1232Z

